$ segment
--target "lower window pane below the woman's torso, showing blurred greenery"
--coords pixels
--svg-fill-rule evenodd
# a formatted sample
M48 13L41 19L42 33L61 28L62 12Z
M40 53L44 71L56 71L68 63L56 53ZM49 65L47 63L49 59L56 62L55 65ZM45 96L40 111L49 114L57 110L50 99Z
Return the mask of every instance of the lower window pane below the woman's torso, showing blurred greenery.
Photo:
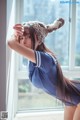
M18 86L18 110L62 108L59 100L35 88L30 80L19 80Z

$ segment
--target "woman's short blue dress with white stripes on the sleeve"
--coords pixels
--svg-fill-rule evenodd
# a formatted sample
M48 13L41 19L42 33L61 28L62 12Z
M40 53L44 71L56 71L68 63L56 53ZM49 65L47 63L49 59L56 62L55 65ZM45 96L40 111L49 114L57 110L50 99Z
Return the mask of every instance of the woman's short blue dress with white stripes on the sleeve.
M36 63L29 61L29 79L32 84L44 90L46 93L61 100L56 94L57 86L57 62L54 57L46 52L34 51ZM76 88L80 91L80 82L76 83ZM77 105L80 103L80 95L72 92L71 101L64 101L67 106ZM61 100L62 101L62 100Z

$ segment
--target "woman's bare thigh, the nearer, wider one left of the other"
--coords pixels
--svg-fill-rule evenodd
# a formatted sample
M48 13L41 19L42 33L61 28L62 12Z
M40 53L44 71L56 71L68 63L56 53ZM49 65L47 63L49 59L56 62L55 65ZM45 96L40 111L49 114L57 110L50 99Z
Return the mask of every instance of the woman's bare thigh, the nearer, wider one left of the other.
M64 120L73 120L77 106L65 106L64 108Z

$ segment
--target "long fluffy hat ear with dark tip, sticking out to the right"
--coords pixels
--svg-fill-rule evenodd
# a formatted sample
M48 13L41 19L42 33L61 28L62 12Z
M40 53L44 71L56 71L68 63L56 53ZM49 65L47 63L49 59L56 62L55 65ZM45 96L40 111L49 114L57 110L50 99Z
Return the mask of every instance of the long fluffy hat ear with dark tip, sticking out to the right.
M52 32L52 31L55 31L55 30L61 28L63 25L64 25L64 19L59 18L59 19L55 20L52 24L46 25L46 29L48 32Z

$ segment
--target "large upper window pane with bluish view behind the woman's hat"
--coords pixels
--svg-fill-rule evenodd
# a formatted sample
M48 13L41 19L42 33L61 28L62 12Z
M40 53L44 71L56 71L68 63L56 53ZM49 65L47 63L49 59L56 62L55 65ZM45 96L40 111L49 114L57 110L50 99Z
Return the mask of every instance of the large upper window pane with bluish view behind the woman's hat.
M56 32L50 33L45 39L45 44L56 54L61 65L68 66L69 4L62 4L59 0L47 0L47 2L46 0L42 2L41 0L24 0L23 8L22 22L39 20L50 24L57 18L65 19L65 25ZM20 64L24 64L24 59ZM23 66L21 67L25 70Z

